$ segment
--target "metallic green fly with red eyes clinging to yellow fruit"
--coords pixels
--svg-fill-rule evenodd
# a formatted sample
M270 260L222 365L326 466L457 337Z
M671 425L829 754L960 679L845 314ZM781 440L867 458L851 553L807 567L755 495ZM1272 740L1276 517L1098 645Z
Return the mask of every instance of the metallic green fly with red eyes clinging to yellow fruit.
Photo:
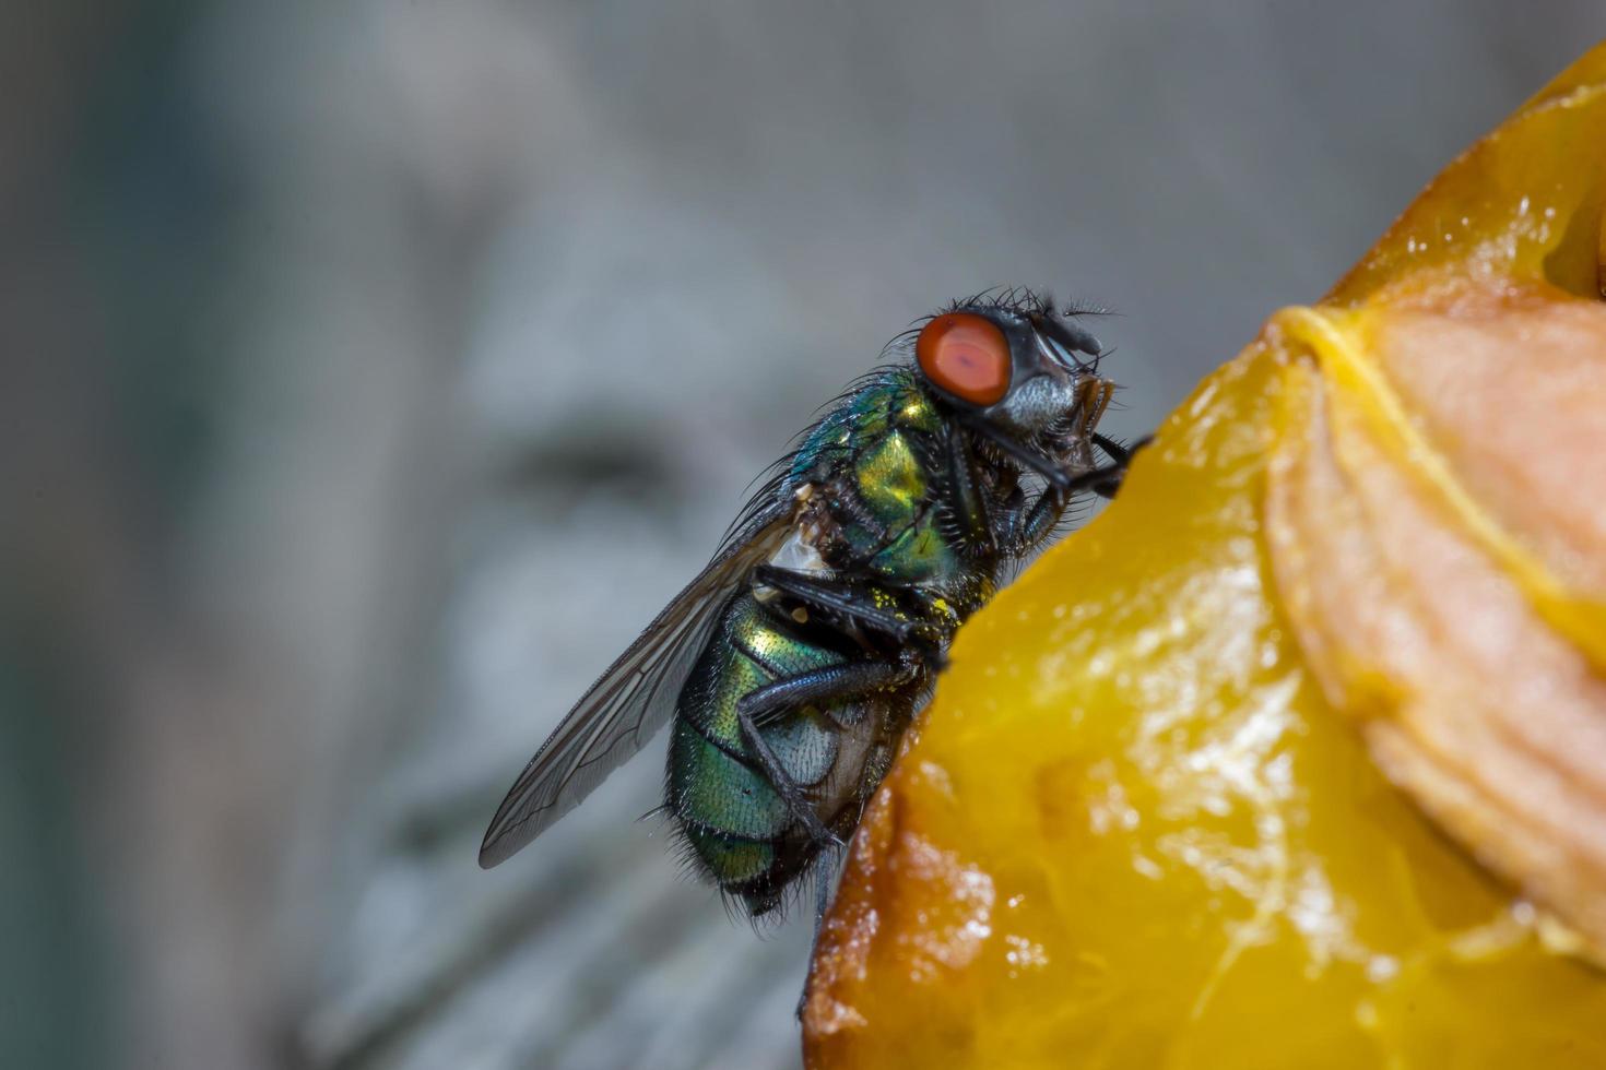
M1031 292L956 302L771 468L710 565L580 698L491 820L495 866L671 722L663 809L695 869L776 911L838 847L959 626L1131 449L1103 347Z

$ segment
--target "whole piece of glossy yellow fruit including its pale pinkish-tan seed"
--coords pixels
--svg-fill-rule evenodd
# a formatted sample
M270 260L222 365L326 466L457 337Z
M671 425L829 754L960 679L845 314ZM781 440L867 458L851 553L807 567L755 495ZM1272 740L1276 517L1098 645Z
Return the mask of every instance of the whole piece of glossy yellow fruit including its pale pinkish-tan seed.
M853 842L809 1065L1606 1065L1590 889L1567 882L1606 842L1606 496L1580 492L1606 428L1564 409L1606 363L1603 87L1596 50L1452 164L960 632ZM1489 435L1559 436L1566 478L1492 465ZM1339 571L1362 558L1322 533L1394 571ZM1450 550L1482 600L1433 586ZM1497 610L1571 651L1571 691L1441 701L1423 680L1492 687L1498 663L1396 643ZM1500 773L1529 712L1535 765Z

